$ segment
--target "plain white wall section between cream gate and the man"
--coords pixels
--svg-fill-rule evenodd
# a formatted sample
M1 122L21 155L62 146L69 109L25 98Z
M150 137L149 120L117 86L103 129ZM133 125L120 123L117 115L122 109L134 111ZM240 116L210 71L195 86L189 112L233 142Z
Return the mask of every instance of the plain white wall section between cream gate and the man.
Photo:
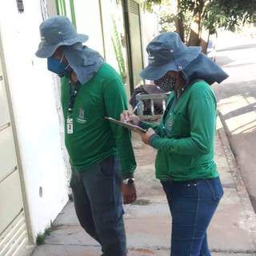
M24 0L24 7L18 14L16 1L0 0L0 33L35 238L66 204L66 167L54 98L57 85L46 60L34 56L42 22L40 2Z

